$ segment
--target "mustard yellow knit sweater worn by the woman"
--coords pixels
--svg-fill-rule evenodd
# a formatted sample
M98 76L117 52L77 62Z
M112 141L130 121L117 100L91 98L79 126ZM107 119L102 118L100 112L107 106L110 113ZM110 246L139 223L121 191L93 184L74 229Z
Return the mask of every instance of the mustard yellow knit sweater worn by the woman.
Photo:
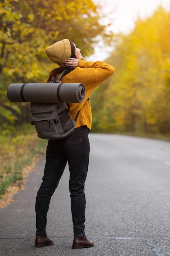
M83 61L79 60L78 67L62 78L62 83L83 83L86 95L82 103L70 103L71 119L75 119L80 110L75 128L86 125L91 130L92 114L90 97L93 90L115 72L113 66L103 61Z

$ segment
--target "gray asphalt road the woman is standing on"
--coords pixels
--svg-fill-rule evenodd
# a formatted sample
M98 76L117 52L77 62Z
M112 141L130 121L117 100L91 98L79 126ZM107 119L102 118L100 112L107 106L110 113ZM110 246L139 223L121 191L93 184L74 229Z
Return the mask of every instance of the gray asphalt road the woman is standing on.
M73 250L68 166L52 197L47 234L35 248L35 197L44 158L16 202L0 209L2 256L170 256L170 142L90 134L86 236L95 247Z

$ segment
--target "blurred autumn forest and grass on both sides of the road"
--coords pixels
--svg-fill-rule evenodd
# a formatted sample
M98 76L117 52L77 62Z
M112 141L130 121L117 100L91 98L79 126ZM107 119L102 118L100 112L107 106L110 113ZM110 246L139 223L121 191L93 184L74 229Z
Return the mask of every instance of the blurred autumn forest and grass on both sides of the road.
M170 137L170 10L159 6L138 18L128 35L114 34L103 18L91 0L0 1L0 194L44 150L30 124L30 104L9 102L7 87L45 83L56 67L45 49L57 40L73 40L85 60L99 40L113 47L105 61L116 72L91 95L92 132Z

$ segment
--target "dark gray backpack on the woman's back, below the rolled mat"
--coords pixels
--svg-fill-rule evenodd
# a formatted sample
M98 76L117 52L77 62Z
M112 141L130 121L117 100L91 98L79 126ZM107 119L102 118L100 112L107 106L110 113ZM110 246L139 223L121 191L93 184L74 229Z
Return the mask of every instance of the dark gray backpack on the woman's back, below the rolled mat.
M68 72L71 70L64 70L53 83L61 83L62 77ZM42 139L67 137L73 132L79 115L78 111L75 120L72 120L69 113L69 103L66 102L31 103L30 112L33 120L31 124L35 126L38 137Z

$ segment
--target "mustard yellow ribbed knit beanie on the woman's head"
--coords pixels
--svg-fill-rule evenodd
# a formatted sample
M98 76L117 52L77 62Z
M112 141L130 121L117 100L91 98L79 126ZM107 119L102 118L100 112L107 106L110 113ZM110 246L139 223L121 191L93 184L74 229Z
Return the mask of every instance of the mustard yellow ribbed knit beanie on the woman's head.
M46 48L46 55L51 61L60 67L64 66L63 61L71 57L71 45L68 39L63 39Z

